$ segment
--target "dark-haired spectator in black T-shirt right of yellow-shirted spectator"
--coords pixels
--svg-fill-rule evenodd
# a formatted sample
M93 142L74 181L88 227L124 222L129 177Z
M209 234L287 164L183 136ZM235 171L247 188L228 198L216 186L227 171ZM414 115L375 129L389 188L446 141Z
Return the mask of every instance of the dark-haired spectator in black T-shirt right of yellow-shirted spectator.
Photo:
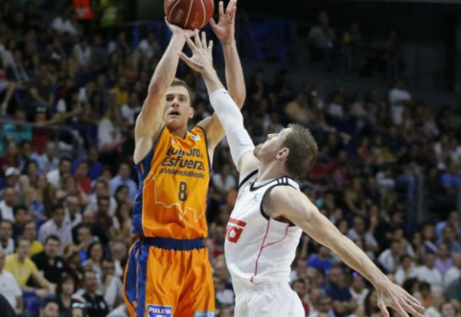
M68 272L66 261L57 255L60 244L57 235L49 235L45 239L44 250L31 258L45 279L54 284L59 283L64 272Z

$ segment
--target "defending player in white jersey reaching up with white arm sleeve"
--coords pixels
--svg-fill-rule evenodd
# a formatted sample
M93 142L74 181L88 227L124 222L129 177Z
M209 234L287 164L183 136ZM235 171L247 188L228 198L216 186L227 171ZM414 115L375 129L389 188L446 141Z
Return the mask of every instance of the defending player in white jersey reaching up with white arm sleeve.
M392 307L402 316L423 316L424 307L392 283L367 255L345 237L301 193L291 177L314 165L317 145L302 126L288 126L254 147L243 117L212 65L212 42L196 31L187 38L192 57L181 58L203 75L214 111L228 140L241 185L228 222L226 263L235 289L235 316L305 316L298 296L289 288L290 265L301 230L335 251L376 288L384 316ZM293 226L293 225L294 226Z

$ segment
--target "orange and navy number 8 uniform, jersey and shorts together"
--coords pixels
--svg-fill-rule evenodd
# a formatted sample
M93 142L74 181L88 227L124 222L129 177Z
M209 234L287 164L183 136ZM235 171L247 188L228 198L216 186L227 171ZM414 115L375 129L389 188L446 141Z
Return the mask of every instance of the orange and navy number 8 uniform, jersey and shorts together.
M203 128L184 138L164 127L136 165L139 190L124 276L131 316L214 316L212 269L203 239L210 159Z

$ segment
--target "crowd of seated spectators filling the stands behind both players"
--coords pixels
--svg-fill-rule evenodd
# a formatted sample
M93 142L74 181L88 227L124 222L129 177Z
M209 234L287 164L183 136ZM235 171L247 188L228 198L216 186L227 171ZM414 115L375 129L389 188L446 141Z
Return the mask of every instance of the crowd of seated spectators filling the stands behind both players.
M50 19L34 1L1 3L0 311L128 316L122 277L137 191L133 124L166 41L156 28L120 27L110 1L91 9L90 20L71 4ZM434 110L414 98L393 38L363 59L355 54L358 24L337 32L320 12L305 35L310 63L359 76L378 70L388 85L351 90L300 82L289 67L274 78L252 70L245 126L255 143L290 122L309 127L320 154L300 179L302 191L427 307L425 316L460 316L461 106ZM178 77L196 91L193 125L212 111L206 90L184 64ZM417 219L421 177L425 216ZM217 316L233 316L223 247L236 188L223 140L207 209ZM369 283L307 235L291 286L306 316L379 315Z

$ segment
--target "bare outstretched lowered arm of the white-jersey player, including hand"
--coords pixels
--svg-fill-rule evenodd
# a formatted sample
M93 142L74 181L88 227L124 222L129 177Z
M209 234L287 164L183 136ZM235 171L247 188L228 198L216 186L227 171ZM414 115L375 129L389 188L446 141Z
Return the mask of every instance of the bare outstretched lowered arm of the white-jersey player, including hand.
M289 186L277 186L265 200L264 210L271 218L284 216L305 231L312 239L337 253L337 255L363 275L378 292L378 307L383 316L389 316L391 307L401 316L423 317L424 307L403 288L392 283L383 272L354 244L319 212L319 209L300 191Z

